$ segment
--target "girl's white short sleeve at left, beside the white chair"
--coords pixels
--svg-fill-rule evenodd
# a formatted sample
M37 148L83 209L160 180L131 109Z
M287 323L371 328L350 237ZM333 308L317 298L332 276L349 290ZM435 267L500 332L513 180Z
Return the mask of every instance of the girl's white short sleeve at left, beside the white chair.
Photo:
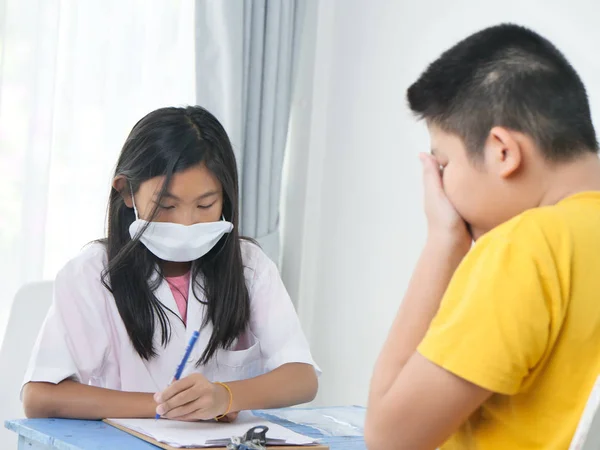
M103 250L87 250L88 256L90 251ZM58 273L23 384L68 378L88 384L101 377L109 350L101 270L101 264L78 257Z

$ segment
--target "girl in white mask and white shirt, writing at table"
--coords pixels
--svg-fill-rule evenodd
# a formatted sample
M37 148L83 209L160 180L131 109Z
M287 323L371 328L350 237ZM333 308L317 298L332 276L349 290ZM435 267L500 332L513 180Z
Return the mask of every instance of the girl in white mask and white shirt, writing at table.
M26 415L232 420L312 400L318 369L279 273L238 235L236 161L219 121L198 106L148 114L112 187L108 237L56 277ZM188 375L173 381L195 330Z

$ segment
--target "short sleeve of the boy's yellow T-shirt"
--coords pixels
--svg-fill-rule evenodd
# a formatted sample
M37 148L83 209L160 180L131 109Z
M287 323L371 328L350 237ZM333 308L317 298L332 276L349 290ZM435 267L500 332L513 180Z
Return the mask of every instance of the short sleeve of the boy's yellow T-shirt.
M419 353L492 392L518 393L550 345L555 272L535 233L484 236L455 272Z

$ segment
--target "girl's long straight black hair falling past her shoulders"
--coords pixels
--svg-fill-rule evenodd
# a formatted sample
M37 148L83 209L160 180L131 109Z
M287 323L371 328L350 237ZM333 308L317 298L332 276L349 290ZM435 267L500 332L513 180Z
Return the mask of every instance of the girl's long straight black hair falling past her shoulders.
M250 319L250 300L238 234L238 175L235 155L219 121L200 106L161 108L141 119L123 145L115 177L123 176L127 187L137 192L144 181L165 176L156 203L166 193L174 173L204 163L223 187L223 216L233 231L192 265L192 292L206 305L202 326L213 324L206 350L198 361L206 363L219 348L229 348L245 331ZM152 213L156 214L156 209ZM156 297L164 278L160 260L139 239L131 239L129 226L135 220L120 192L113 189L108 204L108 266L102 283L113 294L131 343L141 358L157 355L153 343L160 327L161 345L171 337L169 314L177 315ZM158 275L156 276L156 272ZM202 284L200 284L202 280ZM203 294L203 295L202 295ZM189 299L189 301L194 301Z

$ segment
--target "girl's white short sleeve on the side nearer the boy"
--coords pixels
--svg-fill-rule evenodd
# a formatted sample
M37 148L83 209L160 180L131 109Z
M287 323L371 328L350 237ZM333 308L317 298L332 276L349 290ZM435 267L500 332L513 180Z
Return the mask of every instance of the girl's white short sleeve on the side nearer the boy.
M320 374L277 267L260 249L255 252L260 254L256 256L255 281L250 288L250 329L260 342L265 370L305 363Z

